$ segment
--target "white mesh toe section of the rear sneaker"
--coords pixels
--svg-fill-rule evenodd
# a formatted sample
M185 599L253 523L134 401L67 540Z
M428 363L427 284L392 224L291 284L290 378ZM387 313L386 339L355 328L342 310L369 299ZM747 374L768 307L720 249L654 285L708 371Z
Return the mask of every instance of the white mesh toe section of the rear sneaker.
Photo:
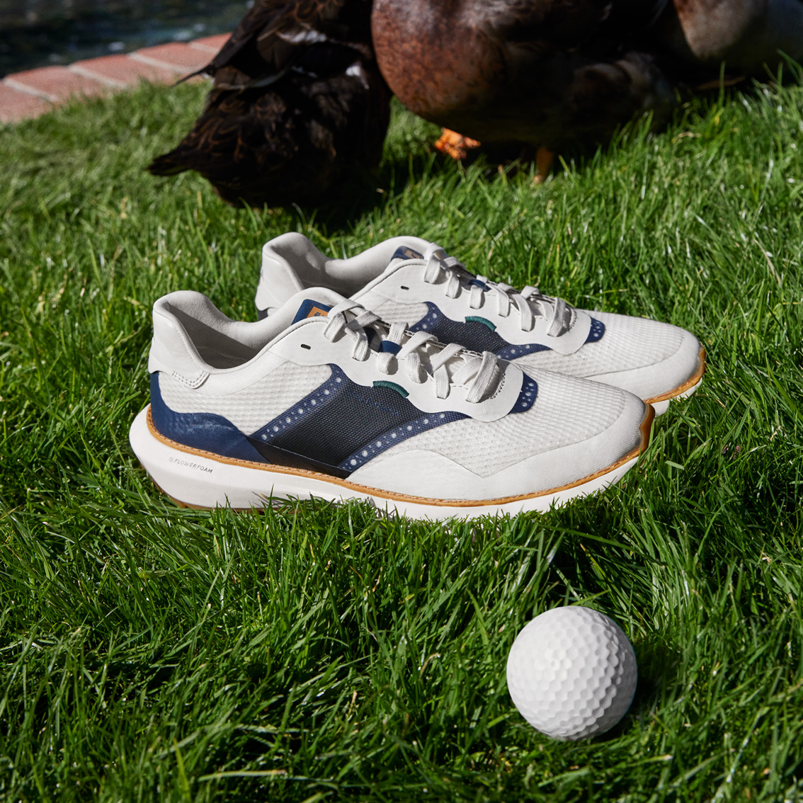
M527 369L560 371L573 377L593 377L602 373L627 371L666 360L683 342L683 329L657 320L589 312L605 324L605 335L587 343L573 354L542 351L521 357L517 365Z

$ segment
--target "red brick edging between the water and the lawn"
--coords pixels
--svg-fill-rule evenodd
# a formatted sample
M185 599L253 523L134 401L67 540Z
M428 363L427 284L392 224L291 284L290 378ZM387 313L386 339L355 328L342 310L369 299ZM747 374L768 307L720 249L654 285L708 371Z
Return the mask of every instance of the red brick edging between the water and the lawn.
M205 36L189 43L171 42L124 55L84 59L67 67L11 73L0 80L0 123L37 117L75 95L116 92L142 80L173 84L210 63L228 38L228 34Z

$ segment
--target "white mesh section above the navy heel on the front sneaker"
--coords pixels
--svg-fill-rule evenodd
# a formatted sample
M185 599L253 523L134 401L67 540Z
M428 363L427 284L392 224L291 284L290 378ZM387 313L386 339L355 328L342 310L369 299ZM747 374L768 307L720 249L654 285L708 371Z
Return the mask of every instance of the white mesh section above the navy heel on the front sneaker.
M159 374L159 389L165 404L176 413L222 415L238 430L251 434L312 393L331 373L328 365L302 368L286 362L243 390L211 396L162 372Z

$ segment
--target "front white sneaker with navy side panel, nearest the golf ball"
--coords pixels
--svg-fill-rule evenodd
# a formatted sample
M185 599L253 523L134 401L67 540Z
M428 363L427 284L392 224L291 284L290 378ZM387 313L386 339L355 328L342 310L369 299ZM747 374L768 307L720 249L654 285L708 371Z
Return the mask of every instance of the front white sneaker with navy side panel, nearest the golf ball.
M194 507L316 496L431 519L544 511L616 482L654 416L626 391L523 373L321 288L258 323L171 293L153 306L148 369L131 445Z

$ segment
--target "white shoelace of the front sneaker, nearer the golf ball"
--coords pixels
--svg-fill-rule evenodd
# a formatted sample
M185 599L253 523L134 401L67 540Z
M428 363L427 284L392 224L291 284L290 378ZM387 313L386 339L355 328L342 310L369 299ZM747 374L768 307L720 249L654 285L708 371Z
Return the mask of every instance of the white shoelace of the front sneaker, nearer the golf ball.
M352 312L352 320L346 319L346 312ZM366 326L371 326L377 332L382 344L393 344L391 349L371 349L365 334ZM364 361L373 354L381 373L392 373L398 362L405 365L410 380L419 385L431 375L435 380L435 395L439 399L449 396L451 385L463 385L468 390L466 401L476 404L491 395L499 383L501 372L494 353L483 352L479 355L456 343L443 345L429 332L409 332L404 323L388 327L379 316L356 301L341 301L328 312L324 336L334 340L341 334L354 341L352 357L355 360Z

